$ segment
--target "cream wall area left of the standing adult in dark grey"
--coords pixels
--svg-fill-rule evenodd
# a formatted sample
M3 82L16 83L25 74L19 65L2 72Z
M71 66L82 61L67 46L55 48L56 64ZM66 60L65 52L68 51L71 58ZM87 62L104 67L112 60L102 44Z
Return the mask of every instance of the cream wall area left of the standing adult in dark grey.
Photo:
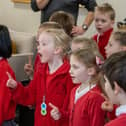
M34 13L30 4L0 0L0 23L17 31L33 33L40 24L40 12Z

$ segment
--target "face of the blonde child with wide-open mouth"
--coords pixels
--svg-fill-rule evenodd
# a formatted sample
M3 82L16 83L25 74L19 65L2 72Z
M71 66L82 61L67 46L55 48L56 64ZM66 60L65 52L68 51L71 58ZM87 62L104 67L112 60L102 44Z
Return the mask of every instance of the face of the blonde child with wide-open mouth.
M55 52L55 44L52 36L46 32L39 35L39 45L37 46L38 53L42 63L50 62L53 59Z

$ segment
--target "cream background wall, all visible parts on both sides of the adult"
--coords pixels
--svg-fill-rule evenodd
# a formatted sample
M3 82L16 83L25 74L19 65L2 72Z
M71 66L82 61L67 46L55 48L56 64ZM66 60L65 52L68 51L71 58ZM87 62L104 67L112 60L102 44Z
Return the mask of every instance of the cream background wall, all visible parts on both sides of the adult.
M112 4L116 10L116 22L126 18L126 0L97 0L97 2ZM82 24L86 13L86 10L80 9L78 24ZM40 12L33 12L29 4L15 4L11 0L0 0L0 23L17 31L35 33L40 24ZM92 24L87 35L91 36L95 32Z

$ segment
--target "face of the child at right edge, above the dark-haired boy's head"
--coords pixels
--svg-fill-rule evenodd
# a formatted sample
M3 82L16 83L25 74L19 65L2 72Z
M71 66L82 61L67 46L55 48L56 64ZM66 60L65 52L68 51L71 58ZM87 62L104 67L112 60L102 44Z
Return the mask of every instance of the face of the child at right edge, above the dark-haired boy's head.
M105 47L105 52L106 52L107 58L110 55L112 55L113 53L120 52L120 51L122 51L122 46L120 45L120 43L118 41L116 41L114 39L113 36L111 36L109 43Z

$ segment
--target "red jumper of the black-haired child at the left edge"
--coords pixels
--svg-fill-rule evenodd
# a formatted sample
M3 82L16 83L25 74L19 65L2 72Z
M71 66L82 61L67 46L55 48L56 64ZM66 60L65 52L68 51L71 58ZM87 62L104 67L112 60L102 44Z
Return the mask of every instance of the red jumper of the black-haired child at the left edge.
M0 126L3 121L15 118L16 103L12 100L11 92L6 86L9 72L15 79L15 74L6 59L0 59Z

